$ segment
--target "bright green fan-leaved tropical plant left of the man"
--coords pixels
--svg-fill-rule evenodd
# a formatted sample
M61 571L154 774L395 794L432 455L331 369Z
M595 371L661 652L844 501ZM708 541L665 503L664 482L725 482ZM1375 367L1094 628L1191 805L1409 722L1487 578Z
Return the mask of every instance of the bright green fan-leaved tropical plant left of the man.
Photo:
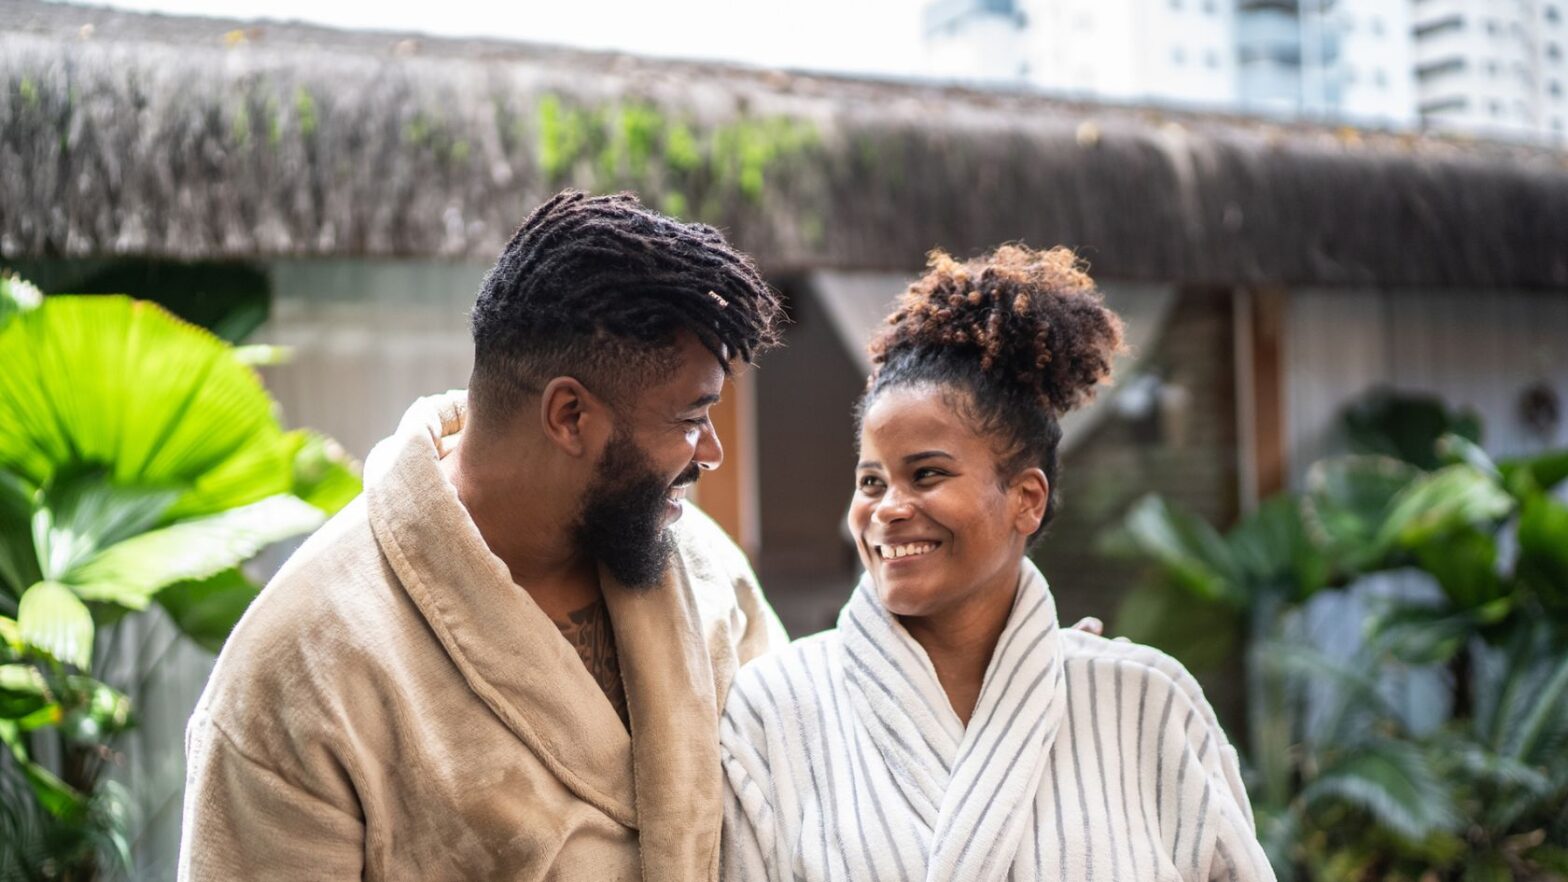
M284 432L248 350L152 303L0 278L0 877L91 879L130 865L118 625L158 610L216 650L257 593L241 563L359 480Z

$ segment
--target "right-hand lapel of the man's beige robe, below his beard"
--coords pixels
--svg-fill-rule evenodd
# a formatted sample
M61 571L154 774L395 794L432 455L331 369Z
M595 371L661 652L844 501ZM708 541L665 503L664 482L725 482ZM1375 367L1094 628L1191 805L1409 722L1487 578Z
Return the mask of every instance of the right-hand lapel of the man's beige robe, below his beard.
M621 585L602 567L599 584L632 717L643 879L713 879L723 818L718 700L685 563L674 557L648 590Z

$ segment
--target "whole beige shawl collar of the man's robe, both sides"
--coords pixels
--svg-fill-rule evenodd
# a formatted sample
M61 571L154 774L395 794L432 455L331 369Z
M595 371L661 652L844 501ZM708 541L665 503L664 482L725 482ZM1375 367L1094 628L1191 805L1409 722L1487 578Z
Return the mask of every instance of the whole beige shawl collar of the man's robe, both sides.
M721 818L718 719L684 556L633 592L601 567L632 731L511 581L442 474L466 395L420 399L365 461L370 526L469 687L579 799L637 829L643 877L707 877Z

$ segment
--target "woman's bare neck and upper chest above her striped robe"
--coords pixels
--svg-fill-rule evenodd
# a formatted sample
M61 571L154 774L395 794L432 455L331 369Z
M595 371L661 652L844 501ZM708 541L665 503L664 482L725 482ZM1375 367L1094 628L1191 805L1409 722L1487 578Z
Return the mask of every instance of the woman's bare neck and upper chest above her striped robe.
M967 727L980 700L991 654L1007 628L1018 595L1018 571L983 589L953 609L933 615L898 617L936 669L953 713Z

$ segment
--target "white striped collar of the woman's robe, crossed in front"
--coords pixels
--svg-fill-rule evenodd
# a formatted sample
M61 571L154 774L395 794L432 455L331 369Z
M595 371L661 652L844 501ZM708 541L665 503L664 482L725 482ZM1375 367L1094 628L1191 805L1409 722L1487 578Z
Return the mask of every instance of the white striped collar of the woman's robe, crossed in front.
M869 576L839 615L855 713L925 836L927 879L1000 880L1066 713L1055 601L1027 559L969 725Z

